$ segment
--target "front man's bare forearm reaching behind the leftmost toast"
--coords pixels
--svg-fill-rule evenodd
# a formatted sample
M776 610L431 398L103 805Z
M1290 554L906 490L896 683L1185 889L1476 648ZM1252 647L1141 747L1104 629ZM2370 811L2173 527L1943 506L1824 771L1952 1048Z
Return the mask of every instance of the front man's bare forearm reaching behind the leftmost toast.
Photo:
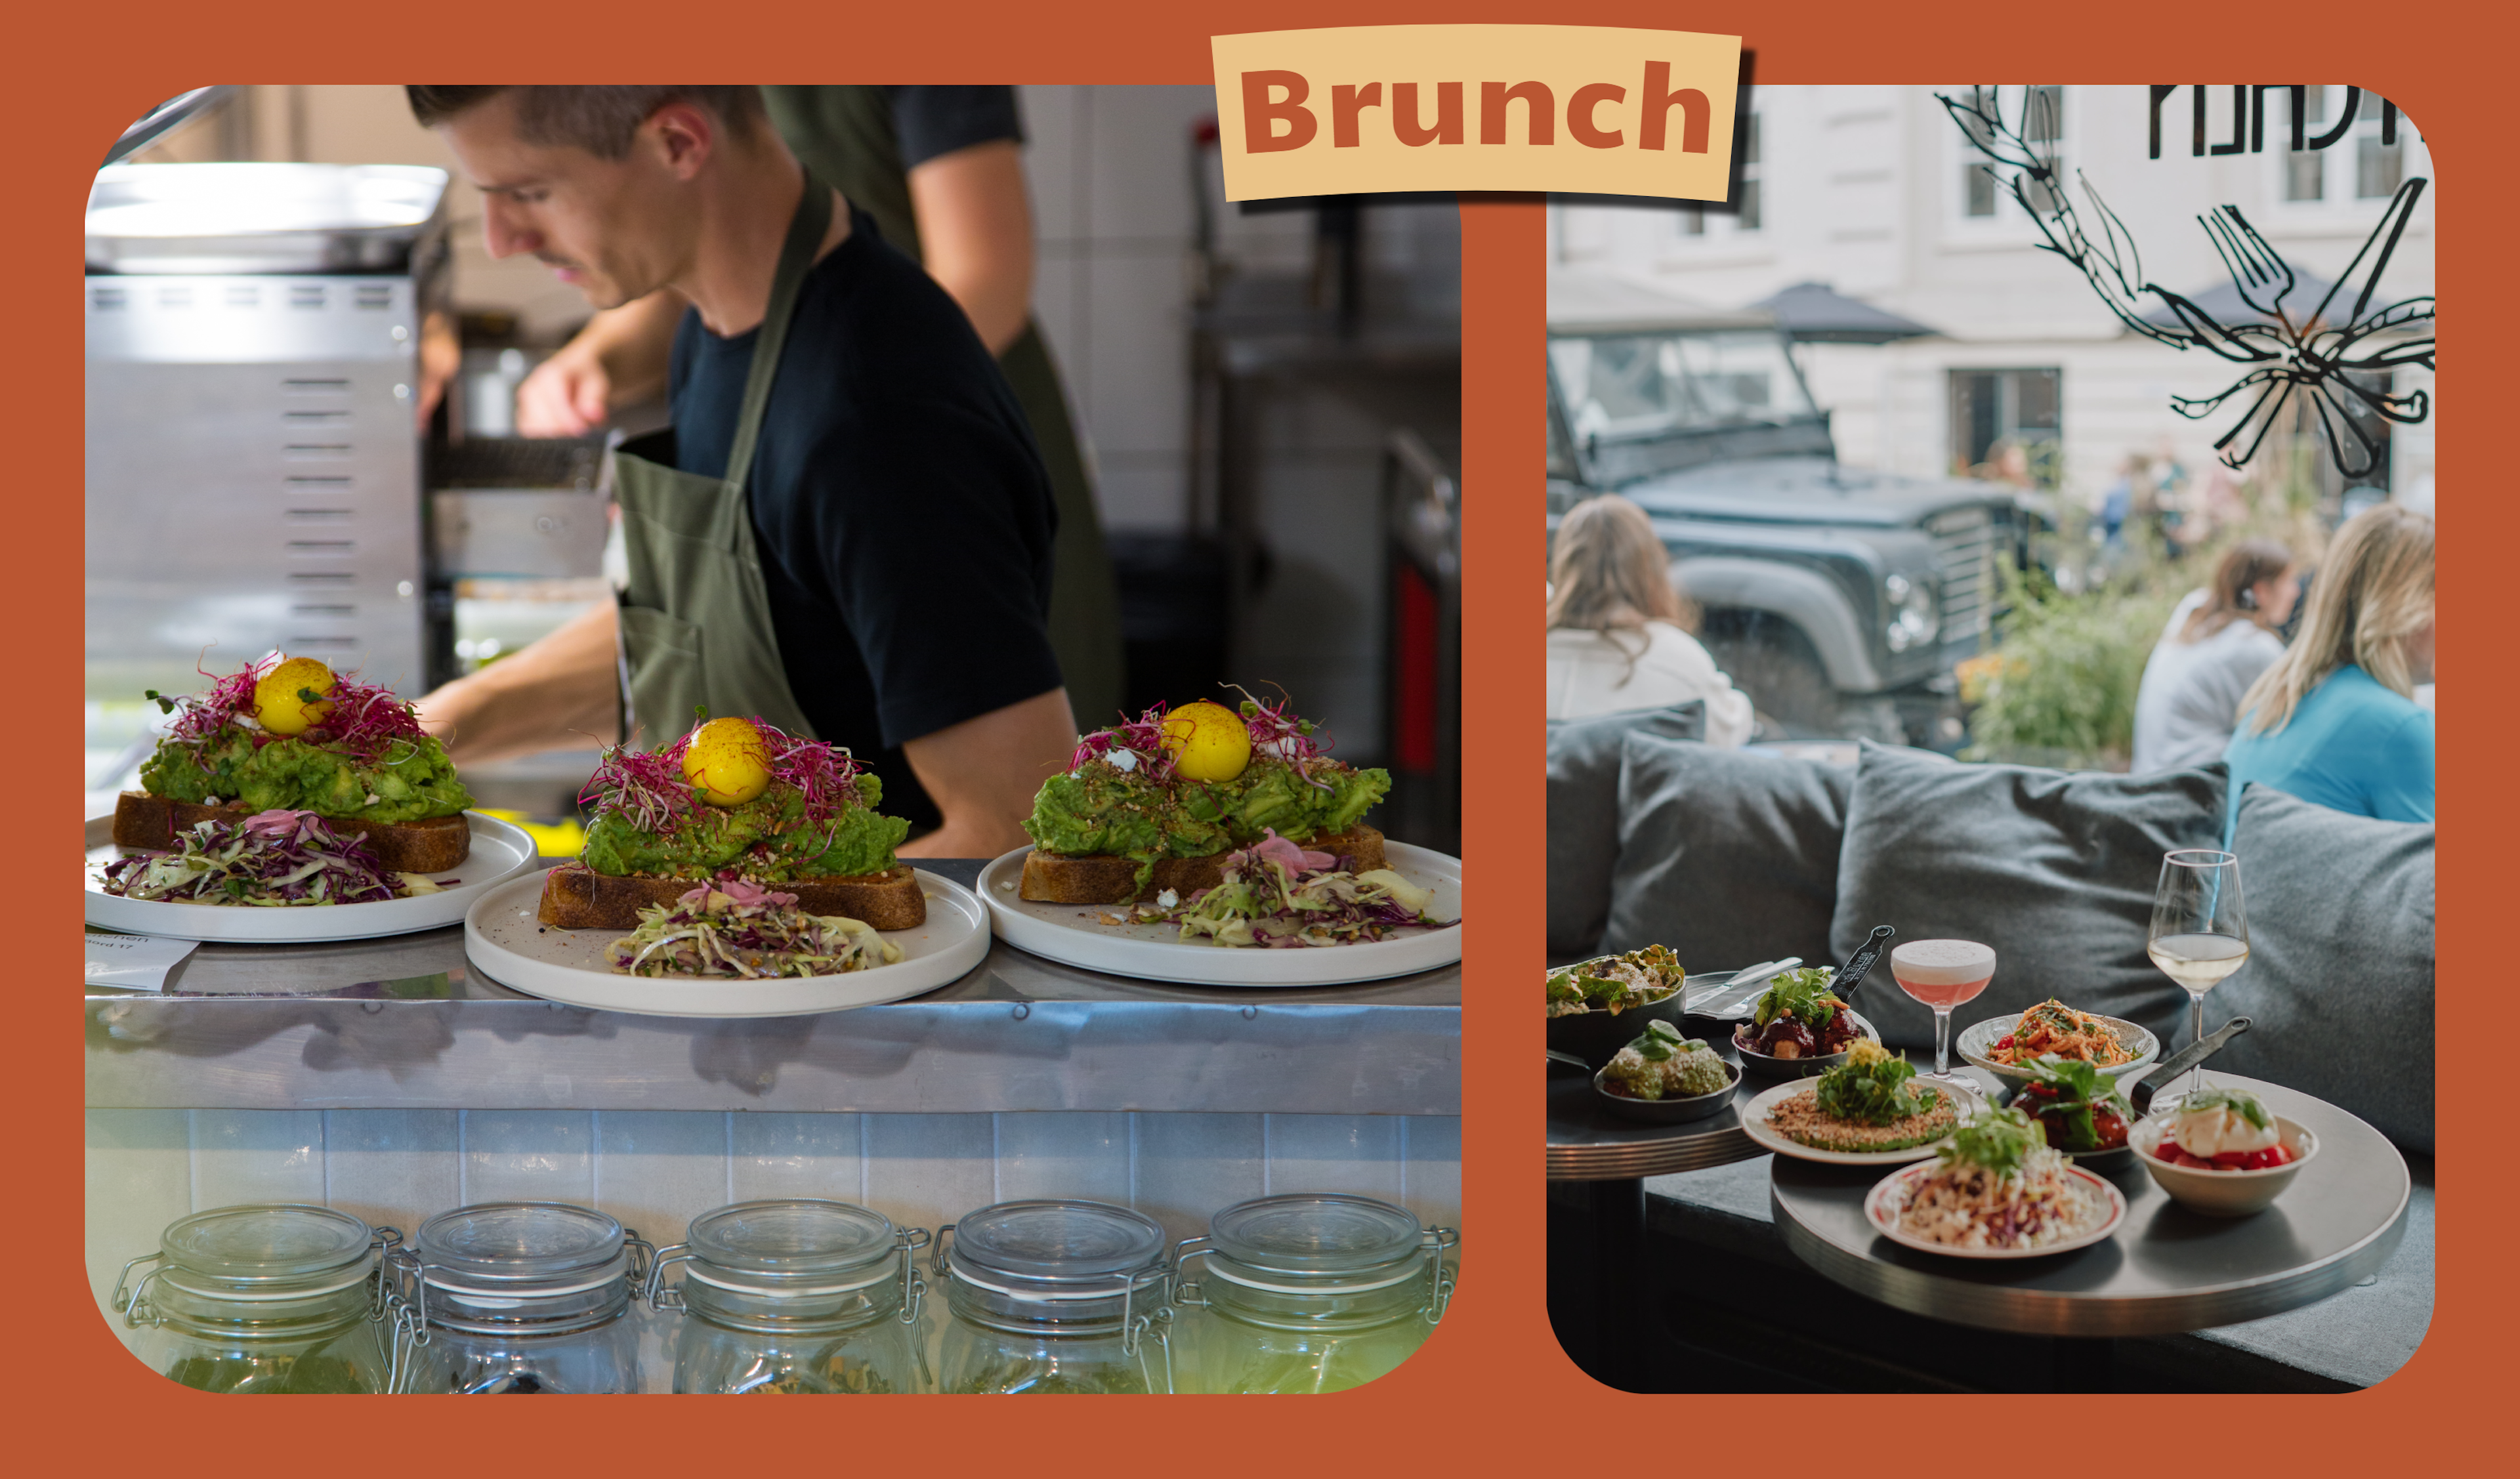
M456 763L620 741L612 602L418 700L421 728Z

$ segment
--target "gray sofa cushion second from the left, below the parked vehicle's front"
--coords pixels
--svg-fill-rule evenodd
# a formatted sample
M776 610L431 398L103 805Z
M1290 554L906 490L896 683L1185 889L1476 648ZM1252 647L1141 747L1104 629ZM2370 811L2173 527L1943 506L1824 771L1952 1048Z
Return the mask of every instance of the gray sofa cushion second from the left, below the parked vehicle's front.
M1671 945L1688 970L1824 962L1852 786L1819 761L1630 733L1603 950Z

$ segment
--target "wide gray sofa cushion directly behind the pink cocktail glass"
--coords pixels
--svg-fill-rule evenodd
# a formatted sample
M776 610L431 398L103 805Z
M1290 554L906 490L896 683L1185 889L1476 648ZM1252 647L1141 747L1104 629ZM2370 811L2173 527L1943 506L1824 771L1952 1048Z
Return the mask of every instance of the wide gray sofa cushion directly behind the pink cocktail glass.
M1996 980L1950 1013L1953 1038L2051 995L2170 1033L2187 993L2145 955L2152 889L2165 852L2220 842L2220 761L2107 776L1865 743L1830 942L1845 957L1890 925L1893 945L1991 945ZM1933 1053L1933 1010L1900 993L1887 957L1855 1005L1890 1046Z

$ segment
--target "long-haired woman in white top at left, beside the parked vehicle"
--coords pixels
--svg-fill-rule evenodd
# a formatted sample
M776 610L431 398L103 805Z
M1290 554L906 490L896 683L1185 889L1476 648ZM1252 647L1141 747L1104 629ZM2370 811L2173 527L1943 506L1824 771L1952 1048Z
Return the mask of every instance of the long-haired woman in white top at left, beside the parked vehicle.
M1575 504L1550 552L1550 718L1706 700L1706 743L1751 733L1749 695L1691 637L1696 610L1646 511L1603 494Z

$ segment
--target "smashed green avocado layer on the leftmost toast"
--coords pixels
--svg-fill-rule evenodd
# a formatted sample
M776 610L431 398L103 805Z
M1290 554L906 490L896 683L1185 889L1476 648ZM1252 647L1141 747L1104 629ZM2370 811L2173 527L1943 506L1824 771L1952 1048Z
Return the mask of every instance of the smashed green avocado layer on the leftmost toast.
M141 786L169 801L217 796L252 811L287 806L360 821L426 821L471 806L471 791L433 738L388 741L365 756L300 738L257 746L252 731L237 726L197 743L159 741L141 766Z

